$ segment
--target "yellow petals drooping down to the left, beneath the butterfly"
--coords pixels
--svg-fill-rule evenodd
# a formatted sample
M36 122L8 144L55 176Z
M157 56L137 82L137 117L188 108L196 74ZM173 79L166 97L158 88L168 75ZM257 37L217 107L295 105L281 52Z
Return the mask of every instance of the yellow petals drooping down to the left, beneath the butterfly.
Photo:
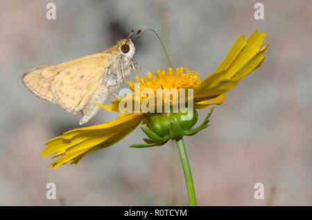
M51 164L53 169L67 163L69 160L73 160L73 163L78 163L85 154L102 147L109 147L123 139L143 119L143 113L125 113L121 114L119 118L102 125L67 131L62 136L46 142L46 149L40 155L46 156L55 152L58 152L55 156L64 154Z

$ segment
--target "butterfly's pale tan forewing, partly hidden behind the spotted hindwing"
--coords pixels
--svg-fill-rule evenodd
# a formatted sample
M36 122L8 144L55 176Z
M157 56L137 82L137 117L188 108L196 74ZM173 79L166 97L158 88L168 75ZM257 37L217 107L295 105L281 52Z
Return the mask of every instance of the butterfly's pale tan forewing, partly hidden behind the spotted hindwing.
M31 71L21 75L21 80L27 89L37 97L48 100L49 102L58 103L58 100L55 99L55 95L51 91L51 84L55 81L55 77L69 66L83 62L86 59L103 57L103 55L105 53L96 53L79 59L73 59L69 62L33 68Z

